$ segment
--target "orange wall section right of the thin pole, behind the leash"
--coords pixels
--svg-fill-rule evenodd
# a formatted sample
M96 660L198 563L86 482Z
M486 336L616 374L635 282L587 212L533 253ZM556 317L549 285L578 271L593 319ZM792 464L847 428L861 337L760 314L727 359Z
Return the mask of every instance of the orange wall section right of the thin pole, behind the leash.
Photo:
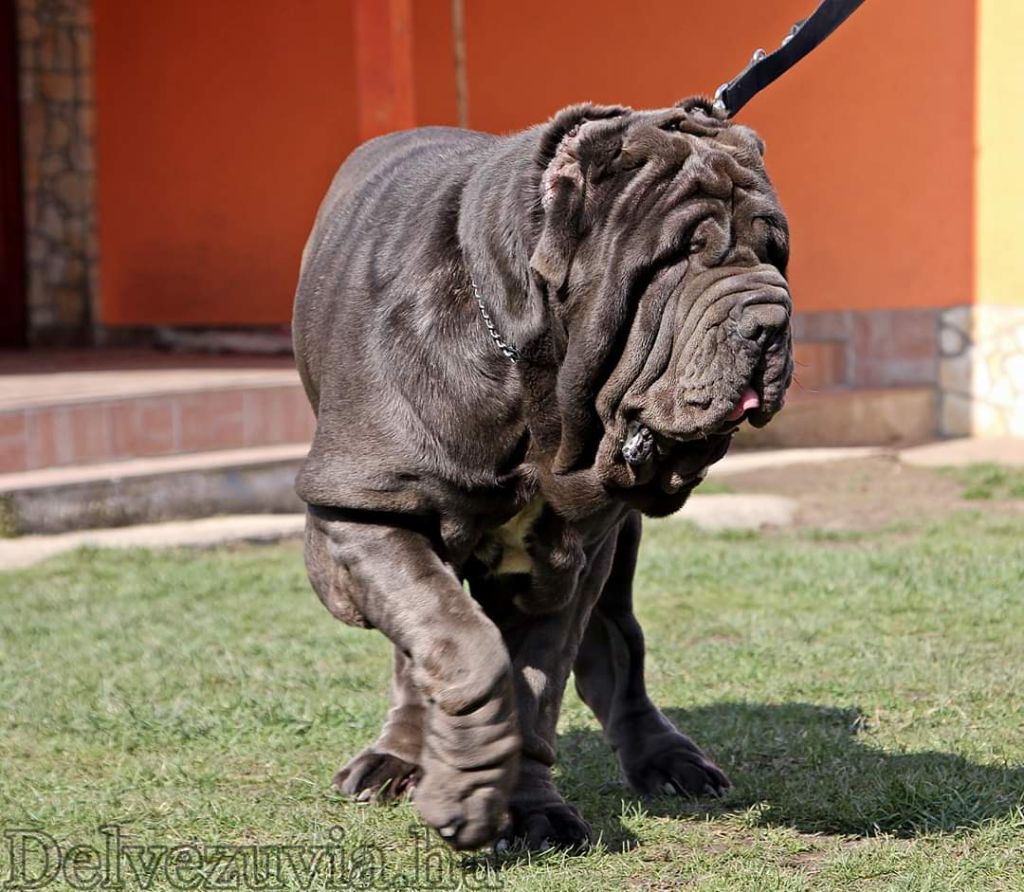
M812 0L467 0L470 125L713 92ZM870 0L740 113L767 145L803 310L971 300L972 0Z

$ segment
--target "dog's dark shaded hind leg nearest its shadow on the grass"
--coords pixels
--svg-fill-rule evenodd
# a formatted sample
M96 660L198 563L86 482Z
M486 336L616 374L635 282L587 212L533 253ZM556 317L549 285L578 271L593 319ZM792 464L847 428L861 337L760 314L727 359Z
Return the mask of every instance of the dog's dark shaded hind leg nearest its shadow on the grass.
M620 530L611 574L577 654L577 690L637 793L720 796L729 787L725 773L647 695L643 632L633 614L639 547L640 515L634 513Z

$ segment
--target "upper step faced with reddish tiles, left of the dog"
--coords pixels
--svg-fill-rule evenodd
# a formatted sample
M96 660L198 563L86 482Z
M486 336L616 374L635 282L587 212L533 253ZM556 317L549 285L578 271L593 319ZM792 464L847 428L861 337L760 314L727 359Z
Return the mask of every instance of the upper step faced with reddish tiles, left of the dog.
M0 387L0 473L309 441L290 366L85 369Z

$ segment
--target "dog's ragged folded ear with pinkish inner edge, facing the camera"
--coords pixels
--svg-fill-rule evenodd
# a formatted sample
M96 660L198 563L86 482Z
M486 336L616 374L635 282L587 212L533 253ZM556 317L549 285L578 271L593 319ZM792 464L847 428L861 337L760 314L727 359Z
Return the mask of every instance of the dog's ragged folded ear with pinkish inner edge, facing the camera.
M622 147L621 128L608 127L608 119L622 118L629 112L617 105L571 105L559 112L544 129L537 156L541 168L538 198L544 222L529 265L552 291L561 289L568 278L587 177L613 160Z

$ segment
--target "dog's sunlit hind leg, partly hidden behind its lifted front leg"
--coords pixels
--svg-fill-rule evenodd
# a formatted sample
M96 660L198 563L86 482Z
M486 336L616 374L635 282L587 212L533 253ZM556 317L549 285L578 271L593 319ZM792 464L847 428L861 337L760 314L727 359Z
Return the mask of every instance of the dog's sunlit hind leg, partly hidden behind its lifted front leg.
M340 793L359 802L386 802L412 793L420 779L427 702L412 678L412 663L397 647L391 677L391 709L384 729L334 776Z

